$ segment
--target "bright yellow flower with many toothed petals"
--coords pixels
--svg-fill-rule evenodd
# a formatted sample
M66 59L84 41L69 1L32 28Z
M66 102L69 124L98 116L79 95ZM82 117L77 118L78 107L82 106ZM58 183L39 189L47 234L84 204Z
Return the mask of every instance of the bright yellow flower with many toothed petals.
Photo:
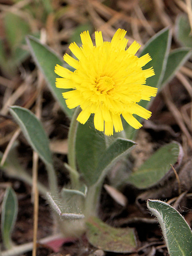
M126 31L118 29L111 42L103 41L102 32L95 32L96 46L89 32L81 33L82 47L74 42L71 52L76 56L64 55L64 61L75 68L72 72L60 65L55 66L55 73L62 78L56 79L56 87L73 89L62 93L68 108L81 107L77 120L84 124L94 113L94 126L105 134L113 135L122 131L122 117L135 129L142 125L133 114L145 119L151 112L137 104L141 99L150 100L157 88L145 85L146 79L154 76L151 68L143 70L151 57L148 54L135 56L140 44L134 41L126 49L128 40Z

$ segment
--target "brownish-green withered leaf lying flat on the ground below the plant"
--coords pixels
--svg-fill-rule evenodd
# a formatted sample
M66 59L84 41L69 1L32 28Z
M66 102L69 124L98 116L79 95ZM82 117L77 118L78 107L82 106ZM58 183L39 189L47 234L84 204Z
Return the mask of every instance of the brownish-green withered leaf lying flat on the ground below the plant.
M102 250L114 253L132 253L136 251L133 228L111 227L96 217L87 221L87 239Z

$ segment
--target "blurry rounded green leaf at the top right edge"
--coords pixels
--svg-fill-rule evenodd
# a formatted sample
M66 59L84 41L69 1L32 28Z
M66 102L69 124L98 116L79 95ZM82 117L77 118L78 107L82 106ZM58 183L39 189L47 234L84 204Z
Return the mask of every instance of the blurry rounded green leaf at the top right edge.
M192 33L187 15L179 15L176 20L176 38L181 45L192 47Z

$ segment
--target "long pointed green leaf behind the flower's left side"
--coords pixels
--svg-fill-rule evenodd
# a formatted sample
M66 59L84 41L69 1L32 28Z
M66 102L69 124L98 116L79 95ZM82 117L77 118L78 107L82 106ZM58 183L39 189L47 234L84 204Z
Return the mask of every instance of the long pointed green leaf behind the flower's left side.
M59 64L61 66L64 65L64 61L62 61L55 52L52 51L48 46L41 44L41 42L32 37L28 36L26 38L27 44L29 45L29 49L34 58L35 64L41 69L44 74L45 79L47 80L50 91L52 92L55 99L60 104L64 113L71 118L73 110L67 108L65 100L62 96L62 93L68 91L67 89L60 89L55 87L55 79L58 77L55 72L55 65ZM69 66L66 66L69 68Z

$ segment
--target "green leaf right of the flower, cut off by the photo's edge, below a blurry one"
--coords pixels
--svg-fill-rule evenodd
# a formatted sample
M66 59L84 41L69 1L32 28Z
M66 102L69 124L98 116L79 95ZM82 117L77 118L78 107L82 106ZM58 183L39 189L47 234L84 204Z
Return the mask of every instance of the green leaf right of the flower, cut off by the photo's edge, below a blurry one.
M190 57L191 53L191 49L189 48L179 48L170 52L162 84L166 84L172 79L177 70Z

